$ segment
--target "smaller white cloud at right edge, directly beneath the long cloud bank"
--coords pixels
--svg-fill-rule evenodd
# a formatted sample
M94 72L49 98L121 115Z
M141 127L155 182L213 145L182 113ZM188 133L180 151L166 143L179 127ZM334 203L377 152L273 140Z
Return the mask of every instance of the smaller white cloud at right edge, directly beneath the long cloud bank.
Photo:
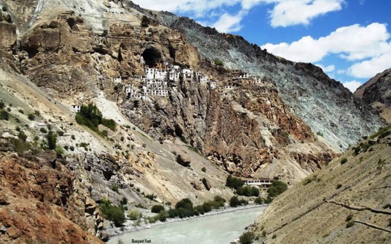
M357 78L372 78L389 68L391 68L391 52L374 57L371 60L353 64L348 68L348 74Z

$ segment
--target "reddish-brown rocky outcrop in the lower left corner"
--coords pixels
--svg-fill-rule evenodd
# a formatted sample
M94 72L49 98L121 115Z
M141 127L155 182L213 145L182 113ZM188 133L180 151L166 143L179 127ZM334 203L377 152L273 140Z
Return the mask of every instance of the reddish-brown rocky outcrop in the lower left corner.
M95 235L103 217L97 204L61 162L42 156L54 161L0 157L0 241L100 243Z

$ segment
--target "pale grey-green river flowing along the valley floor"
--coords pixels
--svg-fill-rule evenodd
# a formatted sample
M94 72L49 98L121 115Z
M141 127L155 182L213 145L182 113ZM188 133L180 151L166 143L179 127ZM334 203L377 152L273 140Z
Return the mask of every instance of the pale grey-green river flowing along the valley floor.
M246 226L254 223L264 208L250 208L157 225L151 229L112 237L107 243L117 244L118 240L122 240L124 244L131 244L133 239L147 240L144 243L152 244L229 244L239 238Z

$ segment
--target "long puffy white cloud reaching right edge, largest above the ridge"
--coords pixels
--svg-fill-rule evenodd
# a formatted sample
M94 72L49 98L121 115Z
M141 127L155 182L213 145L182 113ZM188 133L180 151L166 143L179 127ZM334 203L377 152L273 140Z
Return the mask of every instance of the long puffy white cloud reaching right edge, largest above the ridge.
M341 27L326 37L313 39L306 36L292 43L267 43L261 48L292 61L317 62L328 54L340 54L349 61L372 58L391 52L387 42L390 33L387 24L371 23L368 26L354 24Z

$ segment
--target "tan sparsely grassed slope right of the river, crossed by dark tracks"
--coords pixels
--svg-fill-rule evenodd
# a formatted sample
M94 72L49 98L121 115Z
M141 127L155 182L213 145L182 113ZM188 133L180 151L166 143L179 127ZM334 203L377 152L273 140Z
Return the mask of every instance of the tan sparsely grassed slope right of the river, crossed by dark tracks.
M391 203L390 143L389 135L357 156L348 150L279 196L253 230L261 235L264 226L267 243L390 243L391 233L375 228L391 231L391 209L384 208ZM349 214L355 224L347 228Z

